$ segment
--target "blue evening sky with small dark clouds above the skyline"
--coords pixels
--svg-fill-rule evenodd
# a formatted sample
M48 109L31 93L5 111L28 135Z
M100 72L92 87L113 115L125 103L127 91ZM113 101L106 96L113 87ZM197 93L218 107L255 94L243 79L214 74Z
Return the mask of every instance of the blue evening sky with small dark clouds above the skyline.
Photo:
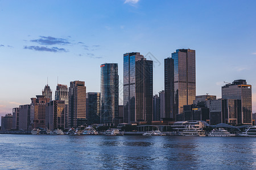
M100 92L100 65L123 54L154 61L154 94L164 90L164 58L196 50L196 95L221 98L235 79L252 85L256 112L256 1L0 0L0 116L30 104L47 84L85 82Z

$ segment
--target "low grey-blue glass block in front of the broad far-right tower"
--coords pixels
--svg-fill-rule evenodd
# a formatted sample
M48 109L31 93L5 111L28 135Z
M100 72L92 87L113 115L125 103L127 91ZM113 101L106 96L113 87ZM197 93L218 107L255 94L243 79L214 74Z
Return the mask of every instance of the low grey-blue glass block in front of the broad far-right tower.
M210 125L221 123L238 125L238 116L241 115L241 100L207 100L206 104L210 109Z

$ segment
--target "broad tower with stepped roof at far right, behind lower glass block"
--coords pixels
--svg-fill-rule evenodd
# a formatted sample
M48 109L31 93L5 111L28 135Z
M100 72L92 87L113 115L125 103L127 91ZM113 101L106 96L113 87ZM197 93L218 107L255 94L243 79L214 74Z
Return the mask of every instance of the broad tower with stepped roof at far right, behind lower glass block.
M251 85L246 80L234 80L221 87L222 99L239 99L242 112L238 114L238 124L252 124Z

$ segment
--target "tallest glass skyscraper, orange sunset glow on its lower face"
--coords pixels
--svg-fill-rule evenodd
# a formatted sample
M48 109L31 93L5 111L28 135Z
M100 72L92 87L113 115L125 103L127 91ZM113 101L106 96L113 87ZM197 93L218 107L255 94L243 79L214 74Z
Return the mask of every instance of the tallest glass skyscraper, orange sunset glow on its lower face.
M196 51L177 49L174 59L174 114L183 113L183 105L193 104L196 97Z

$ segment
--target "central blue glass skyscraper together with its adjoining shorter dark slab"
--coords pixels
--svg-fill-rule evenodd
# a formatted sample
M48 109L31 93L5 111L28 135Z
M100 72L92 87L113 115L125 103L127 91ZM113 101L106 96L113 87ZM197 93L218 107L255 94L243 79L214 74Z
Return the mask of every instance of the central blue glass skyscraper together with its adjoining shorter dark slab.
M124 122L152 121L153 62L140 53L123 54Z

